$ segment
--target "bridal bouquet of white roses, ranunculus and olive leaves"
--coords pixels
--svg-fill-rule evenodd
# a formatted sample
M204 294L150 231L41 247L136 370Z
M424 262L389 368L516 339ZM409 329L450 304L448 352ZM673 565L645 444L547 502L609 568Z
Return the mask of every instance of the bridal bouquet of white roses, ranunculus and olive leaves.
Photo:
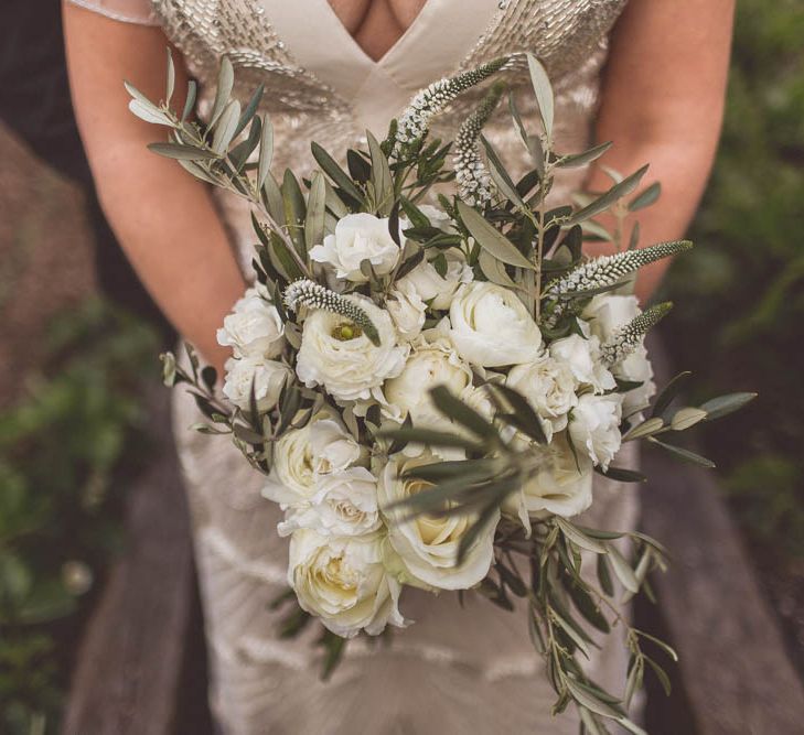
M462 91L515 63L529 66L542 118L540 132L528 132L510 97L532 161L518 181L482 136L501 83L452 143L428 132ZM189 386L208 420L196 429L229 435L283 511L285 599L296 606L285 633L318 618L331 670L346 639L407 625L406 586L471 590L505 608L513 595L526 601L556 711L575 703L589 733L607 732L607 720L641 733L629 702L646 667L666 675L642 650L652 637L620 606L665 553L641 533L575 519L594 504L594 473L644 479L614 464L624 443L709 464L668 437L752 397L672 408L676 379L650 403L643 339L671 305L642 311L629 285L639 268L692 246L635 249L593 221L656 197L656 186L632 196L645 169L548 206L556 172L609 144L554 150L553 93L530 56L424 89L382 142L367 132L367 150L339 152L346 169L312 142L320 170L301 182L291 171L275 179L271 127L256 114L261 89L242 109L227 60L206 125L190 118L194 84L181 115L172 87L170 64L165 101L128 86L131 110L170 128L169 142L150 148L248 199L258 242L257 282L218 332L234 354L225 400L192 349L186 369L163 356L165 381ZM590 234L617 251L585 258ZM583 666L612 626L631 655L622 699Z

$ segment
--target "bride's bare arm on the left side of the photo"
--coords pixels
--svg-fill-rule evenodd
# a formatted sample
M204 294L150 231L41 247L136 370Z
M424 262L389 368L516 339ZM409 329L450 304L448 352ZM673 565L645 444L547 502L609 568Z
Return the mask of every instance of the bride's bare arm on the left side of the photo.
M71 4L64 33L76 118L106 216L168 318L219 369L227 350L215 331L243 295L243 277L208 192L146 150L160 129L129 112L122 86L128 79L151 99L164 97L165 36ZM181 107L180 64L175 88Z

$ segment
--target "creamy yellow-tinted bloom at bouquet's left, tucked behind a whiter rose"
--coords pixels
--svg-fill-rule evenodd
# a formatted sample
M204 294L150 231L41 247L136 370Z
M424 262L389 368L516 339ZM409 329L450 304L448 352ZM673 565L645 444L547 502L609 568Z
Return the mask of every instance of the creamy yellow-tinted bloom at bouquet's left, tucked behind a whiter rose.
M274 447L274 466L262 496L282 508L303 506L315 494L311 424L286 431Z

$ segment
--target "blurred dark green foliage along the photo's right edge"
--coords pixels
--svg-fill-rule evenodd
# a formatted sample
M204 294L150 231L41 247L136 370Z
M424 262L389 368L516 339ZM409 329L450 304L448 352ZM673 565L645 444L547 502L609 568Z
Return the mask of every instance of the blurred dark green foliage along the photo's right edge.
M723 139L694 227L696 256L668 282L672 348L701 394L755 388L753 410L708 452L747 527L804 554L804 6L738 4ZM765 417L759 420L758 417ZM744 460L740 461L743 457Z

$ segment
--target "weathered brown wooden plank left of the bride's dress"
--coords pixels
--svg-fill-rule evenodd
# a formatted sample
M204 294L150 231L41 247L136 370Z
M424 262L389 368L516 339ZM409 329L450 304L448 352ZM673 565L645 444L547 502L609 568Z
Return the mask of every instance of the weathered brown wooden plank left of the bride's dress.
M128 547L79 649L65 735L167 735L174 725L191 619L192 548L167 389L157 387L148 403L159 435L130 488Z

